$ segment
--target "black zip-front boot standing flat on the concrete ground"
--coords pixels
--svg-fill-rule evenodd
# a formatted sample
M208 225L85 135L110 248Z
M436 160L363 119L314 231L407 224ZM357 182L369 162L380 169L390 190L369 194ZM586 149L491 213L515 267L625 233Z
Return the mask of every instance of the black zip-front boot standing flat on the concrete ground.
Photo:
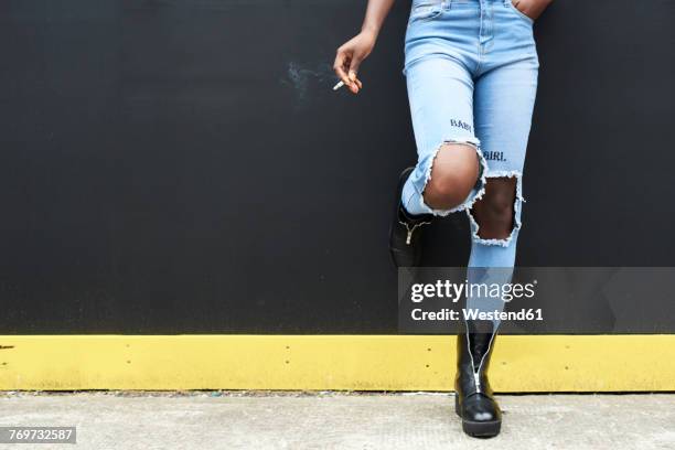
M467 435L492 438L502 428L502 411L488 381L496 330L492 321L469 321L467 329L457 339L454 411L462 418Z

